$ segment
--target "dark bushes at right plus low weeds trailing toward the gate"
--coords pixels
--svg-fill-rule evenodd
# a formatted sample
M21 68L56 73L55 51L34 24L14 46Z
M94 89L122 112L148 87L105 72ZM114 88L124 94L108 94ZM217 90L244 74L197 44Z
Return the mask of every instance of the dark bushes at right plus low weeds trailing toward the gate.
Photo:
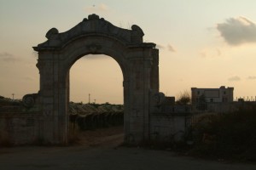
M256 161L256 105L226 114L195 116L183 141L146 141L141 146L223 161Z

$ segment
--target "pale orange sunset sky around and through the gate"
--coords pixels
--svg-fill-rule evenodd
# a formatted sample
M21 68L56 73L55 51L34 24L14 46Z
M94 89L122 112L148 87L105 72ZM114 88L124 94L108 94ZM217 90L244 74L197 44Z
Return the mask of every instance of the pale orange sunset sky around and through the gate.
M38 54L60 32L98 14L114 26L140 26L144 42L160 49L160 91L234 87L256 96L255 0L0 0L0 95L38 93ZM87 55L71 68L71 100L123 103L122 72L109 56Z

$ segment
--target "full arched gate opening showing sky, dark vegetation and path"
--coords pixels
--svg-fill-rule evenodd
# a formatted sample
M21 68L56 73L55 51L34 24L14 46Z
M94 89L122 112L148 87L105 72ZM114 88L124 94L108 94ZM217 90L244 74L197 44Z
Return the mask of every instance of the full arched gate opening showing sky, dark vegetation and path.
M70 140L94 144L115 136L124 141L123 74L117 61L104 54L79 58L69 73Z

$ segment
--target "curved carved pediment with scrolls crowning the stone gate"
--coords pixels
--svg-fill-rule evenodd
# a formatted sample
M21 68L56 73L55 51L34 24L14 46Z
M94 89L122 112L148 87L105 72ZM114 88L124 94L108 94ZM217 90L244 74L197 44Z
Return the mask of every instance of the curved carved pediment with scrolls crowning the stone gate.
M113 24L96 14L90 14L88 19L85 18L69 31L59 33L56 28L51 28L45 36L48 40L38 44L37 47L34 47L34 50L62 48L68 42L86 36L113 37L124 44L134 45L143 43L144 33L139 26L131 26L131 30L123 29L113 26Z

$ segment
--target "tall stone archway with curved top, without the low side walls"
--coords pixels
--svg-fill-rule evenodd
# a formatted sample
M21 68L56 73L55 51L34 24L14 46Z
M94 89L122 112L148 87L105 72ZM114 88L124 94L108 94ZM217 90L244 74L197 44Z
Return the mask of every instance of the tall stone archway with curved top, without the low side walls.
M139 143L150 138L150 112L160 102L159 95L154 98L159 93L159 51L154 43L143 42L143 35L139 26L127 30L90 14L69 31L50 29L48 40L33 47L38 51L37 104L44 119L44 129L40 130L44 143L68 142L69 70L86 54L106 54L121 68L125 142Z

